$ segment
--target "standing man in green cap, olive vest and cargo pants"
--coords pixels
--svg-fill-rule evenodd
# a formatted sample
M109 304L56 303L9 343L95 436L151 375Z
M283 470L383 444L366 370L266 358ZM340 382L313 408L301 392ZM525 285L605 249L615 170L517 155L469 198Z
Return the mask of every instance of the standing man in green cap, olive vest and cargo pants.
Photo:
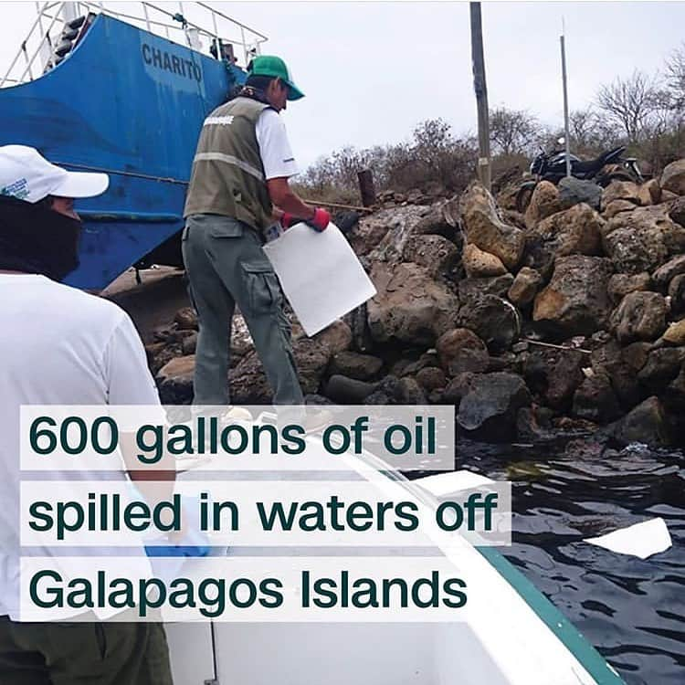
M199 321L195 404L227 405L230 326L248 324L274 404L302 404L279 281L261 246L277 221L322 231L331 219L291 189L297 166L279 111L304 97L278 57L248 66L237 97L211 112L197 143L185 201L183 255ZM276 209L275 207L278 207Z

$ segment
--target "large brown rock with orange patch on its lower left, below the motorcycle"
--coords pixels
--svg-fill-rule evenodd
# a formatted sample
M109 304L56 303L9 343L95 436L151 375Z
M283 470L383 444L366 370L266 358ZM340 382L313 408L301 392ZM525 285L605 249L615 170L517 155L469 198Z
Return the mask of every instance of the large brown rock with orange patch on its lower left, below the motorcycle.
M611 312L606 258L571 255L557 259L552 280L535 298L533 321L564 337L606 328Z

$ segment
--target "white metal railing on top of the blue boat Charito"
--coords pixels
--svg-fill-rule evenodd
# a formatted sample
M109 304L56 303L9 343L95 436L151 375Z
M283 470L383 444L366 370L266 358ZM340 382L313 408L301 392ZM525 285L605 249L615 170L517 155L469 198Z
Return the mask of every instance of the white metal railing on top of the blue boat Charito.
M233 49L242 50L244 64L241 66L247 66L251 58L261 54L261 44L268 40L256 29L206 3L179 2L165 5L162 7L149 2L37 2L37 17L5 75L0 79L0 88L26 83L54 67L60 61L56 58L55 49L62 32L70 20L79 16L114 16L198 52L208 54L210 48L214 47L215 57L220 55L218 46L221 41ZM175 8L177 11L174 12ZM237 58L234 61L237 63Z

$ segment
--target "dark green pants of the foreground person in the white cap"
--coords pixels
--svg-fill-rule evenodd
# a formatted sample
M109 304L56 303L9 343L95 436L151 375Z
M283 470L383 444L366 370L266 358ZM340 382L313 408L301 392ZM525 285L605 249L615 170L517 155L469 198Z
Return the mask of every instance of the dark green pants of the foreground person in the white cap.
M15 623L0 617L2 685L172 685L158 623Z

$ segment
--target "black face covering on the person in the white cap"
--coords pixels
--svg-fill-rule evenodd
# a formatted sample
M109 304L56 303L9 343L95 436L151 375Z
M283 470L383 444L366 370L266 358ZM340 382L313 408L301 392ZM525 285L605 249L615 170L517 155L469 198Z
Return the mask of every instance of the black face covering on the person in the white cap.
M81 222L49 208L0 197L0 269L62 280L79 266Z

